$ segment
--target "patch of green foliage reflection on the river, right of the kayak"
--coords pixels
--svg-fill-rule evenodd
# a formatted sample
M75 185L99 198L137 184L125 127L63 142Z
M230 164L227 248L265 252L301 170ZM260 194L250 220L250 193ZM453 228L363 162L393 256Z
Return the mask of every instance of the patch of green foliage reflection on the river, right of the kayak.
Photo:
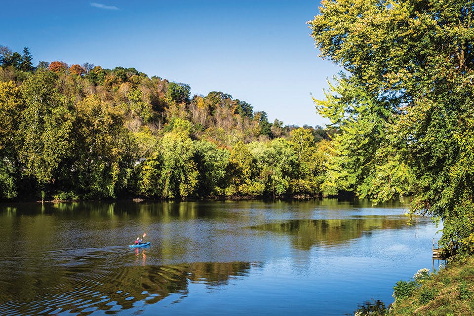
M309 250L315 245L331 246L346 243L361 236L370 236L373 230L400 229L407 225L406 216L355 216L354 219L289 220L252 227L290 235L293 246Z

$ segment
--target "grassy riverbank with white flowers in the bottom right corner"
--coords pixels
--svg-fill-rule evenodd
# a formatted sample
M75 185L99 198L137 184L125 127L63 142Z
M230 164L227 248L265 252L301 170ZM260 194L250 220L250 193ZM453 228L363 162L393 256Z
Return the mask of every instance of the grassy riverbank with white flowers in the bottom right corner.
M450 262L418 288L410 289L408 281L399 290L404 297L395 299L390 316L474 315L474 256Z

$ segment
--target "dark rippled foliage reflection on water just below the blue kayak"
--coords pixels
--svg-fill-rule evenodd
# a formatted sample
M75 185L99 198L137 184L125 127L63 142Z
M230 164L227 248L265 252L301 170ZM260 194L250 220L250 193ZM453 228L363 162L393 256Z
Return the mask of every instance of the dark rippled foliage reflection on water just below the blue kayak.
M146 250L139 250L136 255L146 262ZM21 279L2 276L0 315L66 311L89 315L98 310L115 314L155 304L173 293L186 297L189 282L209 287L227 285L231 278L246 276L252 266L248 262L230 262L106 269L104 261L104 257L94 258L90 253L88 257L60 262L54 275L36 271Z

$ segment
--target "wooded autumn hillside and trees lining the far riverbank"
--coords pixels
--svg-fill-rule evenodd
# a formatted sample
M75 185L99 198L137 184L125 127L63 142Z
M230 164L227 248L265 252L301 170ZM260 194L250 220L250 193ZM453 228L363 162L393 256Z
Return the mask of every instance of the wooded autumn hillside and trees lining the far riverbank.
M327 130L223 92L0 46L0 199L316 196Z

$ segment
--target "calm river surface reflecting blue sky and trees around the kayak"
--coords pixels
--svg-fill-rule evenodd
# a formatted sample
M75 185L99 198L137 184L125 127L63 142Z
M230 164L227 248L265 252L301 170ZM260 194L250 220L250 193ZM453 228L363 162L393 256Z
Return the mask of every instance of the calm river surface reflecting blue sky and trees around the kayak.
M0 205L0 315L354 315L432 261L406 205ZM128 244L147 233L152 245Z

